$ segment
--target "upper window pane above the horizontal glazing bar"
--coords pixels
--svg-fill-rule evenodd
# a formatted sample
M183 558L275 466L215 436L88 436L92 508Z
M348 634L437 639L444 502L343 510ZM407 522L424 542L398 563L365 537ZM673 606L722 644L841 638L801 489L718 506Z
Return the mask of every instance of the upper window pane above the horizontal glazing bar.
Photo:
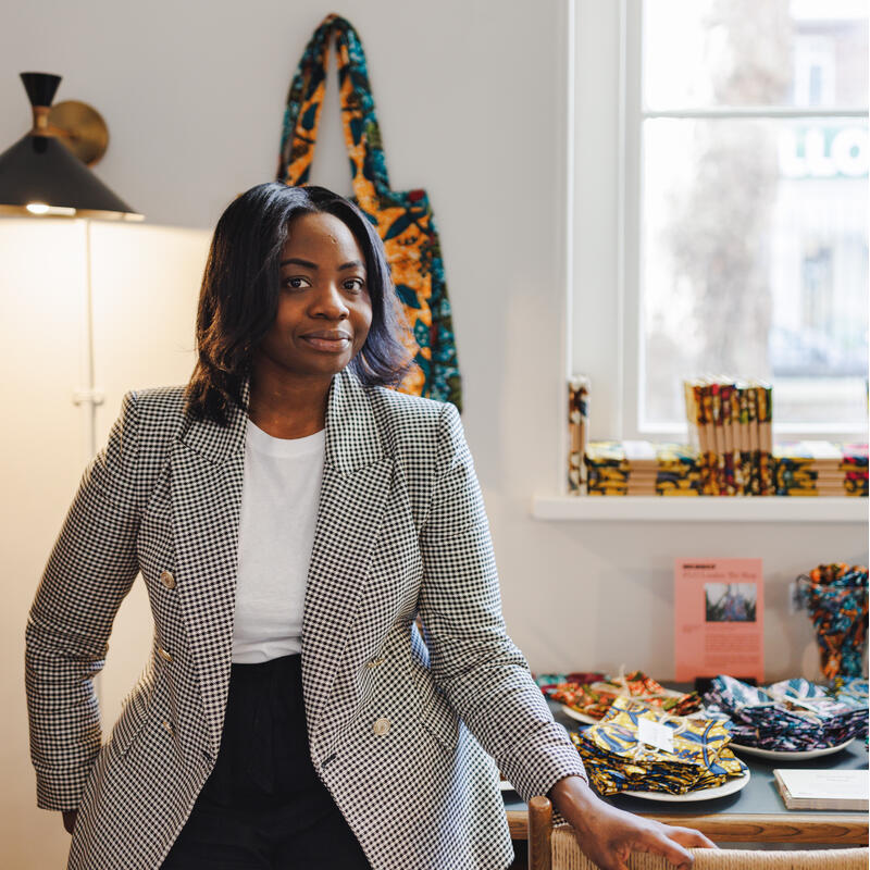
M867 104L868 0L646 0L644 104Z

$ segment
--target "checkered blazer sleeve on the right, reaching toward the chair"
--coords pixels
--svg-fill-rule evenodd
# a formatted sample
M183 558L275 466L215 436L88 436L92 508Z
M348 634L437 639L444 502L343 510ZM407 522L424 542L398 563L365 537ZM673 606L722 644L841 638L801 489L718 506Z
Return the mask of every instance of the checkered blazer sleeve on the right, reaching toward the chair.
M420 616L433 679L523 799L568 775L586 780L501 616L495 556L456 406L439 418L438 478L421 527Z

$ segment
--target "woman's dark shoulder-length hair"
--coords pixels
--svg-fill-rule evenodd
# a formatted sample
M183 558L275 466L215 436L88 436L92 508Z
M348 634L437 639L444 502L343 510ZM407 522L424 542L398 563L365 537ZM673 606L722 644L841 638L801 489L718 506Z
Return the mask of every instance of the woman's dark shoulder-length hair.
M225 425L231 402L243 406L253 351L277 314L281 252L300 214L325 212L341 221L365 256L372 325L348 369L365 385L396 386L411 366L407 328L384 254L369 219L325 187L259 184L221 215L211 240L197 310L197 363L185 390L195 418Z

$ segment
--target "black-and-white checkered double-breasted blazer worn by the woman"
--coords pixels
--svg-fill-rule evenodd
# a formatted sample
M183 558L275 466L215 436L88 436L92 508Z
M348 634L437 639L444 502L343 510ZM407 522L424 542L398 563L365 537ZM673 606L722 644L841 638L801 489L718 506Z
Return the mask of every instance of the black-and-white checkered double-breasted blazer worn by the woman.
M38 805L78 809L77 870L158 868L221 742L246 413L219 426L183 405L182 387L124 397L27 624ZM139 573L152 654L101 745L92 678ZM585 776L505 631L453 405L333 378L302 682L311 759L375 870L504 868L496 765L526 799Z

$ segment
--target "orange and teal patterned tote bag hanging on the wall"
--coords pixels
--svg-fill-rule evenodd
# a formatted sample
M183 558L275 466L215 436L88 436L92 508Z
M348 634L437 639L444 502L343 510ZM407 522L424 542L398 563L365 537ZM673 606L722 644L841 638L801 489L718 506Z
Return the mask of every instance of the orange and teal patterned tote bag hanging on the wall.
M462 410L452 316L435 217L425 190L399 192L389 187L365 54L357 32L338 15L328 15L314 32L290 84L277 179L288 185L303 185L309 179L333 36L353 200L384 241L396 295L412 331L412 335L406 336L406 344L417 364L399 389L451 401Z

